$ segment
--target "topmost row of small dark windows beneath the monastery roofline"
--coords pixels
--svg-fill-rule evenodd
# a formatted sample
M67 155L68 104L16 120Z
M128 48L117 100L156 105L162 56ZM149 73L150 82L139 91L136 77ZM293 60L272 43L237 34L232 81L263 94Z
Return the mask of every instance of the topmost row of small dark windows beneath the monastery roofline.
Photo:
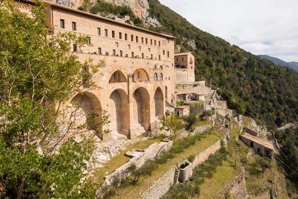
M65 29L65 20L64 19L60 19L60 27ZM72 28L74 31L76 31L76 22L72 22ZM97 28L97 35L101 35L101 28ZM104 29L104 36L108 37L108 30L107 29ZM115 35L115 31L112 30L112 38L116 38L116 35ZM119 39L122 39L122 32L119 32ZM125 33L124 34L124 39L125 40L128 40L128 34ZM136 41L137 43L139 43L139 36L134 36L134 35L131 35L131 41ZM141 43L146 43L148 44L148 38L144 38L144 37L141 37ZM157 41L156 40L152 40L150 39L150 45L153 45L154 43L154 46L157 45ZM169 43L169 39L167 38L166 41L162 40L162 45L165 45L166 43ZM158 41L158 46L161 45L161 42Z

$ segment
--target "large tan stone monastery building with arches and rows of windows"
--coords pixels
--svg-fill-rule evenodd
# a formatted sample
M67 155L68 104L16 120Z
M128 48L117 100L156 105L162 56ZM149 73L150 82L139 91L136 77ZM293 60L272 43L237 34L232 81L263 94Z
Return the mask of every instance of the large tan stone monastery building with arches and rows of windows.
M29 12L29 1L15 3L21 11ZM79 61L105 61L96 80L102 89L86 90L70 102L81 102L85 113L91 109L99 115L102 110L108 111L111 123L103 129L135 138L163 118L166 104L175 104L175 83L195 83L195 55L174 54L175 37L47 1L46 6L46 25L54 34L60 31L88 36L92 46L77 52ZM111 139L102 130L98 136Z

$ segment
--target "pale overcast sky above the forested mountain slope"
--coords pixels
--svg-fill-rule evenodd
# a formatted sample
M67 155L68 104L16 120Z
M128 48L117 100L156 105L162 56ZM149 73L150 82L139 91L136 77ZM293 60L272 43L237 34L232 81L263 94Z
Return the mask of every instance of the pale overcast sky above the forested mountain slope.
M255 55L298 62L298 0L159 0Z

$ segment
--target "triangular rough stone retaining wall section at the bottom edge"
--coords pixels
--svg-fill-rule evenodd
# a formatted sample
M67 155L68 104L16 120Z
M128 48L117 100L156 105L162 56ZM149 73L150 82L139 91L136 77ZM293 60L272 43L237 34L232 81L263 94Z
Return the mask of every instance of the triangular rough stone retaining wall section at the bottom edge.
M227 196L230 197L229 199L247 199L248 198L247 191L246 191L244 170L240 174L238 174L233 179L233 181L224 188L224 191L219 195L218 199L226 199Z

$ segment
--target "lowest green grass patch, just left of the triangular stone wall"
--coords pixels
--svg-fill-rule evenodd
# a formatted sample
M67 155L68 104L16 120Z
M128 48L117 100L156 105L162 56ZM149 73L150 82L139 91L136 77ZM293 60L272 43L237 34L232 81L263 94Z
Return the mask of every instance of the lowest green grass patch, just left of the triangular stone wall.
M224 161L223 166L217 168L213 178L205 179L205 182L200 186L201 194L199 199L213 199L240 172L241 169L239 167L235 168L233 161Z

